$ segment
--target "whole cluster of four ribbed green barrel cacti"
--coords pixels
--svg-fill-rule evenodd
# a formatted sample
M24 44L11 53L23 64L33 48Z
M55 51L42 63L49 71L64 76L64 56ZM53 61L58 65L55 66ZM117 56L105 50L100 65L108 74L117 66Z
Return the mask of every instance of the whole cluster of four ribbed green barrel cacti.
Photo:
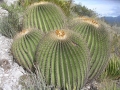
M23 23L25 30L16 35L12 53L28 71L38 67L46 85L80 90L106 67L109 35L94 19L79 17L67 22L58 6L39 2L28 7Z

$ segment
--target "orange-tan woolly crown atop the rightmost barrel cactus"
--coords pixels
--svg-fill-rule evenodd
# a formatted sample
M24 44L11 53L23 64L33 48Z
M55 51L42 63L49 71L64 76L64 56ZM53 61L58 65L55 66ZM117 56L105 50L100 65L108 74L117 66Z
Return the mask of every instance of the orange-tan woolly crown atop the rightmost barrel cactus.
M100 26L99 23L96 20L92 19L92 18L79 17L79 18L76 18L76 19L80 19L81 21L86 22L88 24L91 24L91 25L95 26L96 28L98 28Z

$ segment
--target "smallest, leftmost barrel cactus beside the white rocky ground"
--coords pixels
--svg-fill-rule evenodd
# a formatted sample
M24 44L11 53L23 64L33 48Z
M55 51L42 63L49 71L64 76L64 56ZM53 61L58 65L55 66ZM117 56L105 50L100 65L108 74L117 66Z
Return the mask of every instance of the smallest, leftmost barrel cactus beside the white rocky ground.
M42 38L40 31L26 29L18 33L12 44L12 53L16 62L28 71L34 70L35 51L39 40Z

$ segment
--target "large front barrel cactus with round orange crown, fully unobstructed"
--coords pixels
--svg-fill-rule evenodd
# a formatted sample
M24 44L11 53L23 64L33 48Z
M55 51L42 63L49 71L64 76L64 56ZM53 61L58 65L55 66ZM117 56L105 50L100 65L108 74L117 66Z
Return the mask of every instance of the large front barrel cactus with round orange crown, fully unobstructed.
M87 79L89 52L75 32L49 32L39 43L36 61L48 85L63 90L78 90Z

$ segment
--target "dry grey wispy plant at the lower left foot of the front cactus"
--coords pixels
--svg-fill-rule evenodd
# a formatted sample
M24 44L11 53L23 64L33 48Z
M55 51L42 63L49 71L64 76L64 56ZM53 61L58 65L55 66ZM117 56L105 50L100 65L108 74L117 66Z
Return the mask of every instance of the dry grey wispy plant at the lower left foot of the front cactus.
M53 90L51 87L46 86L37 67L35 72L26 73L19 78L19 84L22 85L21 90Z

